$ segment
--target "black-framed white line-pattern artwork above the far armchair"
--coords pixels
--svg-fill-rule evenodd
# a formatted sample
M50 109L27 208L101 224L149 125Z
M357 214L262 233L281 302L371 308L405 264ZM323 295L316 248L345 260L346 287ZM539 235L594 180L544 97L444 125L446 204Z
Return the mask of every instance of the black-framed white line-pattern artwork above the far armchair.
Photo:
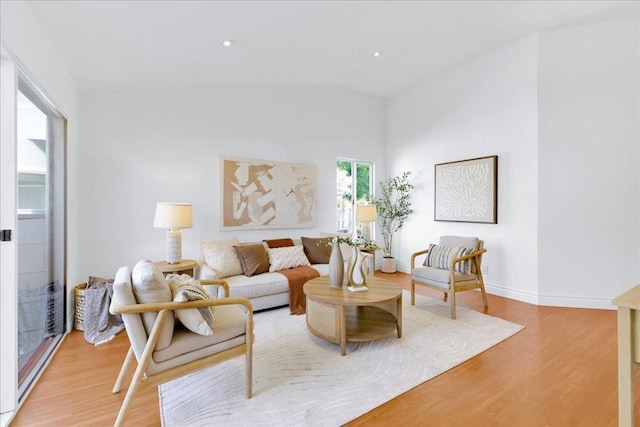
M435 165L436 221L498 223L498 156Z

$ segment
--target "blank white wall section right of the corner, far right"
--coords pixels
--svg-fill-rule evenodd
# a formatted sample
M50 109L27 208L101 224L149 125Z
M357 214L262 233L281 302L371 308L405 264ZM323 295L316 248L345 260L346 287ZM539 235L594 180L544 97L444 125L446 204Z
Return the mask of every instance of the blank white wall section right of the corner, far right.
M638 28L540 35L542 303L608 304L640 281Z

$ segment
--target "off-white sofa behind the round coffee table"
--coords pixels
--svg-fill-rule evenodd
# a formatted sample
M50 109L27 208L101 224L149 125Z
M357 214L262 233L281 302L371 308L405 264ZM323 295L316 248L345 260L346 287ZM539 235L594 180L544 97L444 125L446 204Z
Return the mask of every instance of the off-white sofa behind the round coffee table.
M304 249L302 244L302 239L292 239L294 246L298 246L298 252L300 251L300 247ZM237 239L230 239L227 241L218 241L215 242L216 246L225 246L225 243L228 242L226 246L229 246L231 250L228 248L223 248L220 251L214 251L214 254L207 254L207 251L211 249L211 242L203 242L202 244L202 257L198 260L198 266L196 267L195 276L197 279L224 279L229 284L229 294L231 297L245 297L248 298L252 305L254 311L264 310L273 307L286 306L289 304L289 282L287 278L278 273L277 271L263 272L259 274L246 275L240 272L240 274L230 274L227 275L225 273L231 271L231 273L238 273L237 268L228 269L223 265L225 262L233 263L233 260L222 260L223 258L231 258L230 251L234 251L233 246L242 246L242 245L264 245L267 253L270 253L269 248L267 248L267 244L265 242L252 242L252 243L239 243ZM308 243L308 242L307 242ZM308 246L308 244L307 244ZM345 264L348 262L349 256L352 253L351 247L348 245L341 246L343 257L345 258ZM271 251L272 252L272 251ZM306 254L307 252L305 252ZM211 259L212 255L215 256L215 259ZM372 274L372 256L370 254L365 255L368 274ZM237 254L236 254L237 257ZM311 258L311 259L309 259ZM326 263L314 263L313 256L308 256L308 264L312 268L314 268L320 276L327 276L329 274L329 264L328 259ZM273 264L270 265L272 267ZM215 268L219 267L219 268ZM345 266L346 267L346 266ZM295 268L295 267L294 267ZM358 278L359 279L359 278ZM207 288L205 286L205 288ZM218 292L218 287L211 287L211 290L207 289L207 292L215 293ZM218 296L218 295L212 295Z

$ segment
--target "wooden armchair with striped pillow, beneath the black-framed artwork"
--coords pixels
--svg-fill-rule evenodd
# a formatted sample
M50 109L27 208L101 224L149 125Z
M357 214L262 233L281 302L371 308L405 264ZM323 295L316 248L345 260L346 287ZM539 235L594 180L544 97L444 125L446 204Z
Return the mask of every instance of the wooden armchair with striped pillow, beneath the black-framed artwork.
M477 237L441 236L438 245L412 254L411 304L415 305L416 285L421 285L443 291L445 301L449 297L452 319L456 318L456 292L480 289L488 308L481 269L485 252L484 242ZM424 263L416 266L416 258L425 254Z

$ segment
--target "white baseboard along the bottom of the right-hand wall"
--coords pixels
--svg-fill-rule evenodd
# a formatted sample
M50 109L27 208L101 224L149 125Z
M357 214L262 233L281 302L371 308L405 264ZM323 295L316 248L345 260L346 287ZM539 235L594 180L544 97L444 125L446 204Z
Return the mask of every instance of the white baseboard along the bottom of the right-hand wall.
M411 266L406 264L397 264L398 271L411 274ZM526 302L533 305L546 305L551 307L570 307L570 308L595 308L604 310L615 310L617 307L611 303L611 299L606 298L590 298L576 297L567 295L541 295L532 292L526 292L519 289L508 288L496 285L485 280L485 289L491 295L497 295L516 301Z

